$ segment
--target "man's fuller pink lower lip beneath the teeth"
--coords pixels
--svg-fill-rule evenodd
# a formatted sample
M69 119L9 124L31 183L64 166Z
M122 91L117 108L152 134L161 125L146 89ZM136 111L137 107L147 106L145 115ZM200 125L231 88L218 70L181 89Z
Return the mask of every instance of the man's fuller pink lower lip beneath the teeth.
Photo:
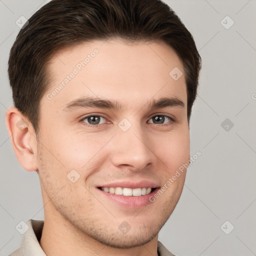
M149 200L150 196L153 196L155 193L157 193L160 187L155 188L149 194L144 194L139 196L125 196L125 195L119 195L119 194L112 194L109 192L105 192L97 187L96 189L100 192L102 196L118 203L120 206L129 207L129 208L140 208L151 203L151 201Z

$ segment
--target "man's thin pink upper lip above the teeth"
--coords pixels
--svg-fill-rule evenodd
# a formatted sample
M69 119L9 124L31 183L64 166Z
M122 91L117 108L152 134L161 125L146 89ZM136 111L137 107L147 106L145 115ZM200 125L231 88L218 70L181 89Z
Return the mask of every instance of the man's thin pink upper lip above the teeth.
M111 183L105 183L97 185L97 187L127 187L127 188L143 188L143 187L159 187L160 185L156 182L150 180L141 180L141 181L116 181Z

